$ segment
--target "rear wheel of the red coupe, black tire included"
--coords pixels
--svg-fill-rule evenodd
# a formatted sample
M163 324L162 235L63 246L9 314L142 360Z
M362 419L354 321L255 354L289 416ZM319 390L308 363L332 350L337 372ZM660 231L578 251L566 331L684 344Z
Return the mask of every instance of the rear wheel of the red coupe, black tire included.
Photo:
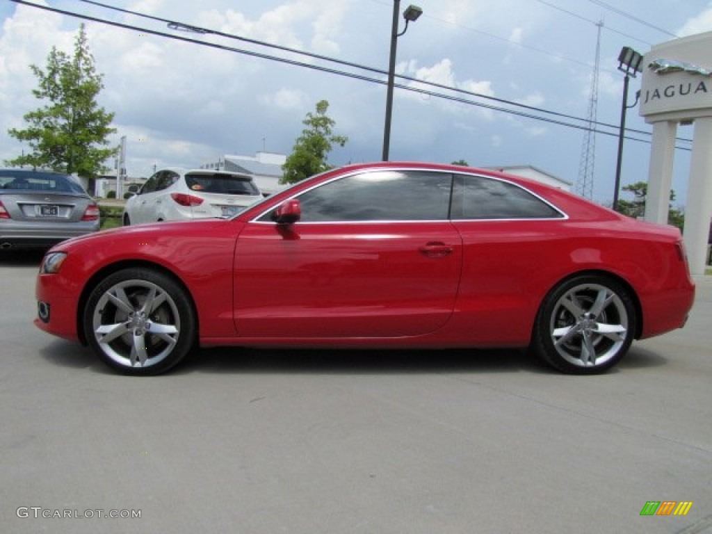
M537 317L533 348L558 370L602 372L628 351L637 328L635 306L619 283L579 276L557 286Z

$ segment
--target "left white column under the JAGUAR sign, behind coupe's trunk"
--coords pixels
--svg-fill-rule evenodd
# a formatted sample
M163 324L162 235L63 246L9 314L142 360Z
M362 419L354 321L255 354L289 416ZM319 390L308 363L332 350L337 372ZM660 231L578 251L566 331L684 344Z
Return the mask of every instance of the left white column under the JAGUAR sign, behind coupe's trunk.
M645 197L645 220L649 222L667 224L676 132L675 121L661 120L653 123L648 191Z

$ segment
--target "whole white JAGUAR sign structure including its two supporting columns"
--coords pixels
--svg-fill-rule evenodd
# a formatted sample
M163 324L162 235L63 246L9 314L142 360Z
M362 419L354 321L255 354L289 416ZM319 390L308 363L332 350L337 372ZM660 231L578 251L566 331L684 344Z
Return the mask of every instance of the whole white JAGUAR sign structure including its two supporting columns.
M712 219L712 32L674 39L643 58L640 115L653 126L645 219L666 224L679 124L693 146L684 237L690 270L703 274Z

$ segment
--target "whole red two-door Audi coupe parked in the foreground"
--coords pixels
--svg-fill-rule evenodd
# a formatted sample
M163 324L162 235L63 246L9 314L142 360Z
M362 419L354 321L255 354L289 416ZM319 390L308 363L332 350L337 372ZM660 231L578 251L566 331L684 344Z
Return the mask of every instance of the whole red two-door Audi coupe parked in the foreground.
M216 345L530 347L592 374L681 328L694 285L672 226L507 174L385 162L229 219L65 241L36 295L39 328L131 375Z

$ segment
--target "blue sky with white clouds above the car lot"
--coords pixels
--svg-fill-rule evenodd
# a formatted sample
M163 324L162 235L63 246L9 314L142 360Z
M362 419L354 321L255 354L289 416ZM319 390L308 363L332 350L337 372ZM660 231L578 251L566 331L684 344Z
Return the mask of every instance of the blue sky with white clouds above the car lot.
M386 88L384 75L377 71L388 65L391 0L28 1L135 27L85 21L95 66L104 75L100 105L116 114L112 142L127 138L131 176L148 176L154 166L195 167L225 154L254 155L261 150L288 154L303 128L301 121L318 100L328 100L335 131L349 138L345 147L330 155L332 164L381 157ZM409 3L403 0L401 10ZM597 119L617 125L623 79L617 56L622 46L646 53L676 36L712 30L708 0L415 0L415 4L424 14L398 40L397 73L466 92L397 79L416 91L395 91L390 159L465 159L483 167L531 164L574 183L580 174L582 130L472 103L584 124L546 112L587 117L597 23L602 21ZM36 78L29 66L43 67L52 46L70 53L82 19L12 0L0 0L0 17L0 159L8 159L23 150L6 135L8 128L23 127L23 114L38 107L31 94ZM355 66L228 36L174 31L166 21ZM631 82L630 103L639 83L639 78ZM650 132L637 109L629 110L627 125ZM647 179L650 137L632 135L643 141L626 142L623 184ZM681 127L678 135L691 138L691 127ZM609 202L617 137L599 134L595 142L593 197ZM680 204L685 200L689 159L689 150L676 151L674 189Z

